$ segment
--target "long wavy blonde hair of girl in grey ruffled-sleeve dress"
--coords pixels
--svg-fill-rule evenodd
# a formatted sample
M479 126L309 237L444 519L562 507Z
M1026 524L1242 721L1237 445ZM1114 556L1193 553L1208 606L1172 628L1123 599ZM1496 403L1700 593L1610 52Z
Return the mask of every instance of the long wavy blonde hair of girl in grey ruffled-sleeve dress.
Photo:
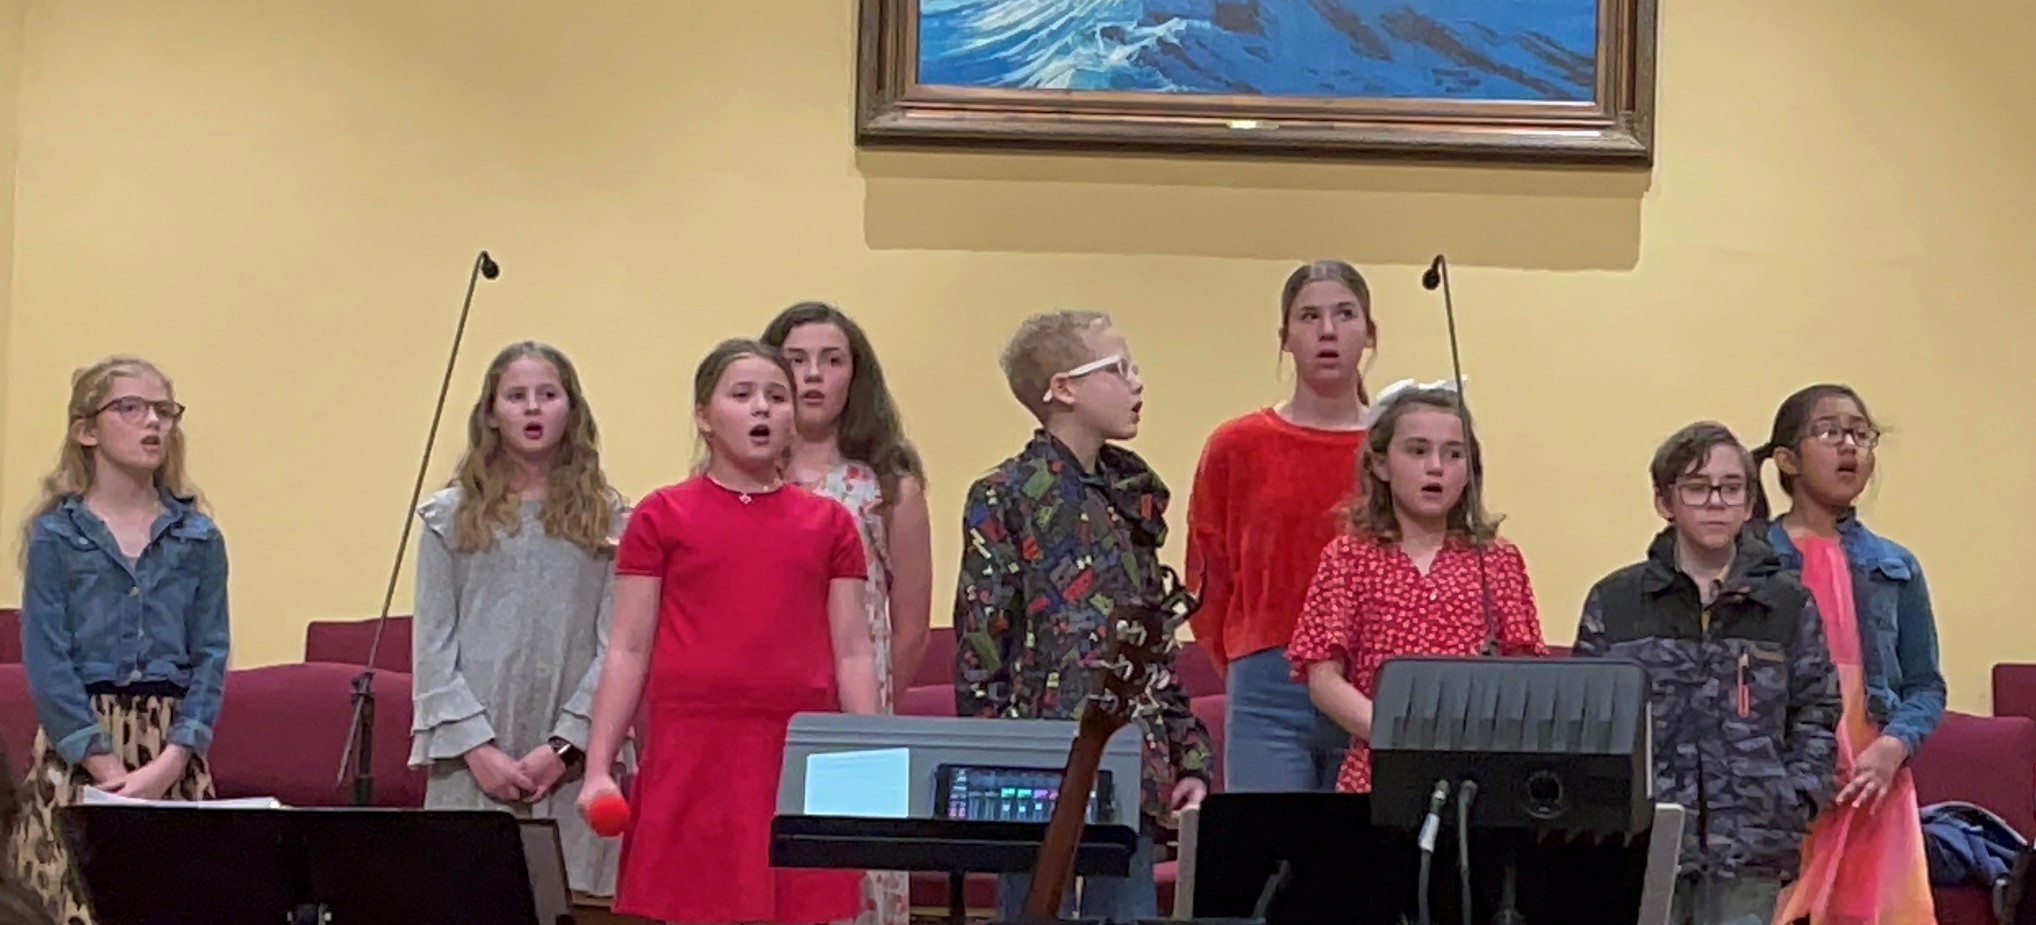
M466 454L452 485L460 489L460 507L452 515L452 548L460 552L487 550L495 546L495 534L515 534L521 526L517 507L521 499L515 491L515 467L503 454L501 432L489 426L495 410L495 389L501 387L503 373L511 363L535 357L558 371L558 383L566 389L566 436L558 444L558 458L552 460L550 489L544 497L546 536L566 540L590 556L615 550L615 513L623 507L623 497L609 487L601 471L601 430L595 426L595 412L586 407L586 393L580 391L580 373L552 344L523 340L509 344L489 363L489 373L480 383L480 397L474 399L472 414L466 416Z

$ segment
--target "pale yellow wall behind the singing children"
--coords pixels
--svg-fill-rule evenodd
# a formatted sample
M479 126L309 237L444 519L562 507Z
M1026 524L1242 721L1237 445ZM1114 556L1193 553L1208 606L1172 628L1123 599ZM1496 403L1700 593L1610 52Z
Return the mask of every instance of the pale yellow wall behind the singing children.
M1285 389L1293 261L1372 273L1382 383L1448 373L1417 285L1448 251L1553 640L1655 530L1663 434L1759 440L1786 391L1847 379L1900 428L1865 509L1930 564L1953 701L2036 658L2026 4L1665 2L1651 175L857 153L843 0L31 6L0 507L75 365L159 359L232 540L238 664L379 605L480 247L503 277L454 420L495 346L556 340L631 493L682 475L713 340L800 297L855 312L932 465L943 587L963 487L1028 426L994 363L1022 314L1120 316L1136 448L1185 497L1207 430Z

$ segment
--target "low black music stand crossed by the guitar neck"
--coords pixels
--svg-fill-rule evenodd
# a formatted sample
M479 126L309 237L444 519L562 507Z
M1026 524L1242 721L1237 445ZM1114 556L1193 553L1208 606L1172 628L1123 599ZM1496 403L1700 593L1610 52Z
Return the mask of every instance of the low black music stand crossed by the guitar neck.
M975 819L861 819L780 815L770 823L770 862L780 868L932 870L947 874L947 915L967 921L967 874L1030 874L1047 823ZM1085 825L1075 876L1126 876L1138 831Z

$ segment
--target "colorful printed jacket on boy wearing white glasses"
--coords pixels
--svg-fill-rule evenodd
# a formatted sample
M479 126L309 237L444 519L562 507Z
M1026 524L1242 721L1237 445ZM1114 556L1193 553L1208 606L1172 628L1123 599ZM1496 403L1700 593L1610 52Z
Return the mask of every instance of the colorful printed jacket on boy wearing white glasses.
M969 485L955 593L959 715L1079 717L1118 601L1158 601L1167 499L1136 452L1104 446L1085 473L1047 432ZM1171 825L1175 780L1209 778L1209 731L1177 681L1154 695L1161 711L1142 719L1142 809Z

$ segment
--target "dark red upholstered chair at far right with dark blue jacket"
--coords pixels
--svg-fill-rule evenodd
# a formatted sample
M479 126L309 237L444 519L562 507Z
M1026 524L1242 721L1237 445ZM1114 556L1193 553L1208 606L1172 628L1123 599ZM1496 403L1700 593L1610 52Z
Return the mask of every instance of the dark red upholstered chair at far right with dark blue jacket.
M1912 764L1916 801L1963 801L2036 835L2036 719L1944 713ZM1977 886L1938 886L1938 925L1993 925L1993 905Z

